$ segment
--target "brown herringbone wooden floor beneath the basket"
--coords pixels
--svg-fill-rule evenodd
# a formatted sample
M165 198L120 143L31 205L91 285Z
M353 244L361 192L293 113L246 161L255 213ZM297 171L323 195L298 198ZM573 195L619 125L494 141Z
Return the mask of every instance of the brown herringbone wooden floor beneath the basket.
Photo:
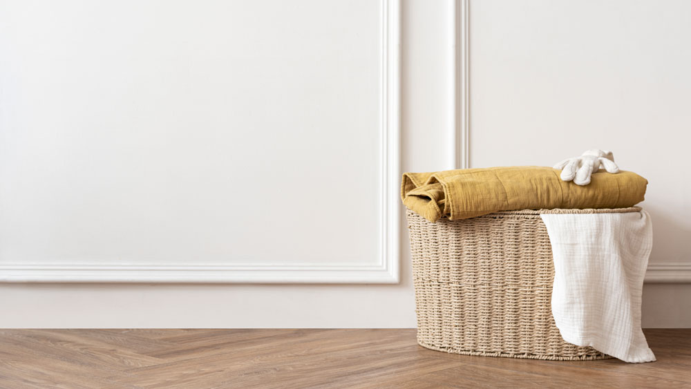
M691 330L658 361L446 354L415 330L0 330L0 388L691 388Z

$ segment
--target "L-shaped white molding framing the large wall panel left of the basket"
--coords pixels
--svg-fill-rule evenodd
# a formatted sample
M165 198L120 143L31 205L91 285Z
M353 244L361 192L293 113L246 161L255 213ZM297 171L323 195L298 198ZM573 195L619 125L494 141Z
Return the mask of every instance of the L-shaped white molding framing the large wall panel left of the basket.
M400 0L381 0L379 57L379 263L0 264L0 282L21 283L398 283L400 218Z

